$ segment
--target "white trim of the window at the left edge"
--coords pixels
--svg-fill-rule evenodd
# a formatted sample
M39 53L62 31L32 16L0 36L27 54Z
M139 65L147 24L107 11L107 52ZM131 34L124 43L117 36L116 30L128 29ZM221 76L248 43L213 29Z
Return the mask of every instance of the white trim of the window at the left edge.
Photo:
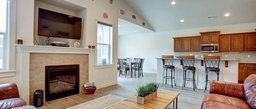
M7 66L5 70L1 70L0 72L0 78L3 77L9 77L9 76L15 76L14 73L16 73L16 49L15 49L15 40L16 40L16 0L9 0L9 30L8 34L9 37L6 42L8 42L8 48L7 48Z

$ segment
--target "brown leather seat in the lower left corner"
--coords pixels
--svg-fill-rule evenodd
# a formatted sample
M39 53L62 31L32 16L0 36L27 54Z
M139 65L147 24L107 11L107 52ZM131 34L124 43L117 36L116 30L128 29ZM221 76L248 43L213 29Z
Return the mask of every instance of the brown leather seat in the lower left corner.
M26 106L27 103L20 98L17 85L14 83L0 85L0 109L9 109L15 107L33 108Z

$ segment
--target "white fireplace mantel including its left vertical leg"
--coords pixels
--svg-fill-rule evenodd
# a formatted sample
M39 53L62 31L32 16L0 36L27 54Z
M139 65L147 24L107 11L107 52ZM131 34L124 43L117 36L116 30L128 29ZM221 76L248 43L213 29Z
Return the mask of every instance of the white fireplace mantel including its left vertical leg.
M95 49L34 46L16 44L16 75L20 76L19 91L21 98L29 104L29 57L30 53L52 53L52 54L88 54L94 55Z

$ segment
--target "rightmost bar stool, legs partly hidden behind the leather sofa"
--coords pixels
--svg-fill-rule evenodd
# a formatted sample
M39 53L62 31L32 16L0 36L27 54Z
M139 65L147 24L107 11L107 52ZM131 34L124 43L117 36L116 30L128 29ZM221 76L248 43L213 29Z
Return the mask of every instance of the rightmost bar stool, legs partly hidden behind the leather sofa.
M207 83L210 81L208 80L208 74L209 72L215 72L217 74L217 81L219 81L219 60L221 59L221 56L219 55L204 55L204 61L205 61L205 91L207 88ZM204 91L204 92L205 92Z

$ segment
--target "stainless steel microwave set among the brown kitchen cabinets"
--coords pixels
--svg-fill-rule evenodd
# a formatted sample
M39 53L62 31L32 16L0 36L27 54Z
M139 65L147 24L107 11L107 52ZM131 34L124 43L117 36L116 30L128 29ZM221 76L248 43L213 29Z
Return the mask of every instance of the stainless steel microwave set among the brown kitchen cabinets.
M201 44L201 52L219 52L219 44Z

